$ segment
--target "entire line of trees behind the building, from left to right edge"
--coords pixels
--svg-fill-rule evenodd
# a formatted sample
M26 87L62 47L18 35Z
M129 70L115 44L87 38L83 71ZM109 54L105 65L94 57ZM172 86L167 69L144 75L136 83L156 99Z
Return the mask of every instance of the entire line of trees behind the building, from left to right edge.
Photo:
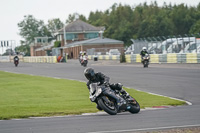
M75 16L76 13L70 14L65 24L73 22ZM104 37L122 40L129 46L132 38L200 33L200 3L197 6L166 3L158 6L156 1L137 6L113 4L105 11L91 11L88 18L80 14L79 19L94 26L104 26ZM63 26L59 18L51 19L45 25L32 15L25 16L18 23L20 35L25 39L21 43L30 45L38 36L53 39L53 33Z

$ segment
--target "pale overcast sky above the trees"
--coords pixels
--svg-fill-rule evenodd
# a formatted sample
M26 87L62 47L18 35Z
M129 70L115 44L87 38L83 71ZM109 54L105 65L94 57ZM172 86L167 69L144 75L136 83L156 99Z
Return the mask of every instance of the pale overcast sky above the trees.
M105 11L114 3L137 6L140 3L152 0L0 0L0 40L19 40L17 23L24 19L24 15L33 15L43 20L45 24L49 19L60 18L65 22L69 14L75 12L88 17L91 11ZM154 0L153 0L154 1ZM157 0L159 6L167 4L187 4L197 6L199 0Z

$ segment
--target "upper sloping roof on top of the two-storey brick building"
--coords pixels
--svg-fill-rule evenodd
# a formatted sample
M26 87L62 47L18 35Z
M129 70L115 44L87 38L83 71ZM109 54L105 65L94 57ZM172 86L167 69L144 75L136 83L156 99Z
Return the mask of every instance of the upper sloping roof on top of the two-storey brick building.
M67 26L65 26L65 32L87 32L87 31L100 31L103 30L104 27L95 27L91 24L83 22L82 20L76 20ZM63 28L58 32L63 33Z

